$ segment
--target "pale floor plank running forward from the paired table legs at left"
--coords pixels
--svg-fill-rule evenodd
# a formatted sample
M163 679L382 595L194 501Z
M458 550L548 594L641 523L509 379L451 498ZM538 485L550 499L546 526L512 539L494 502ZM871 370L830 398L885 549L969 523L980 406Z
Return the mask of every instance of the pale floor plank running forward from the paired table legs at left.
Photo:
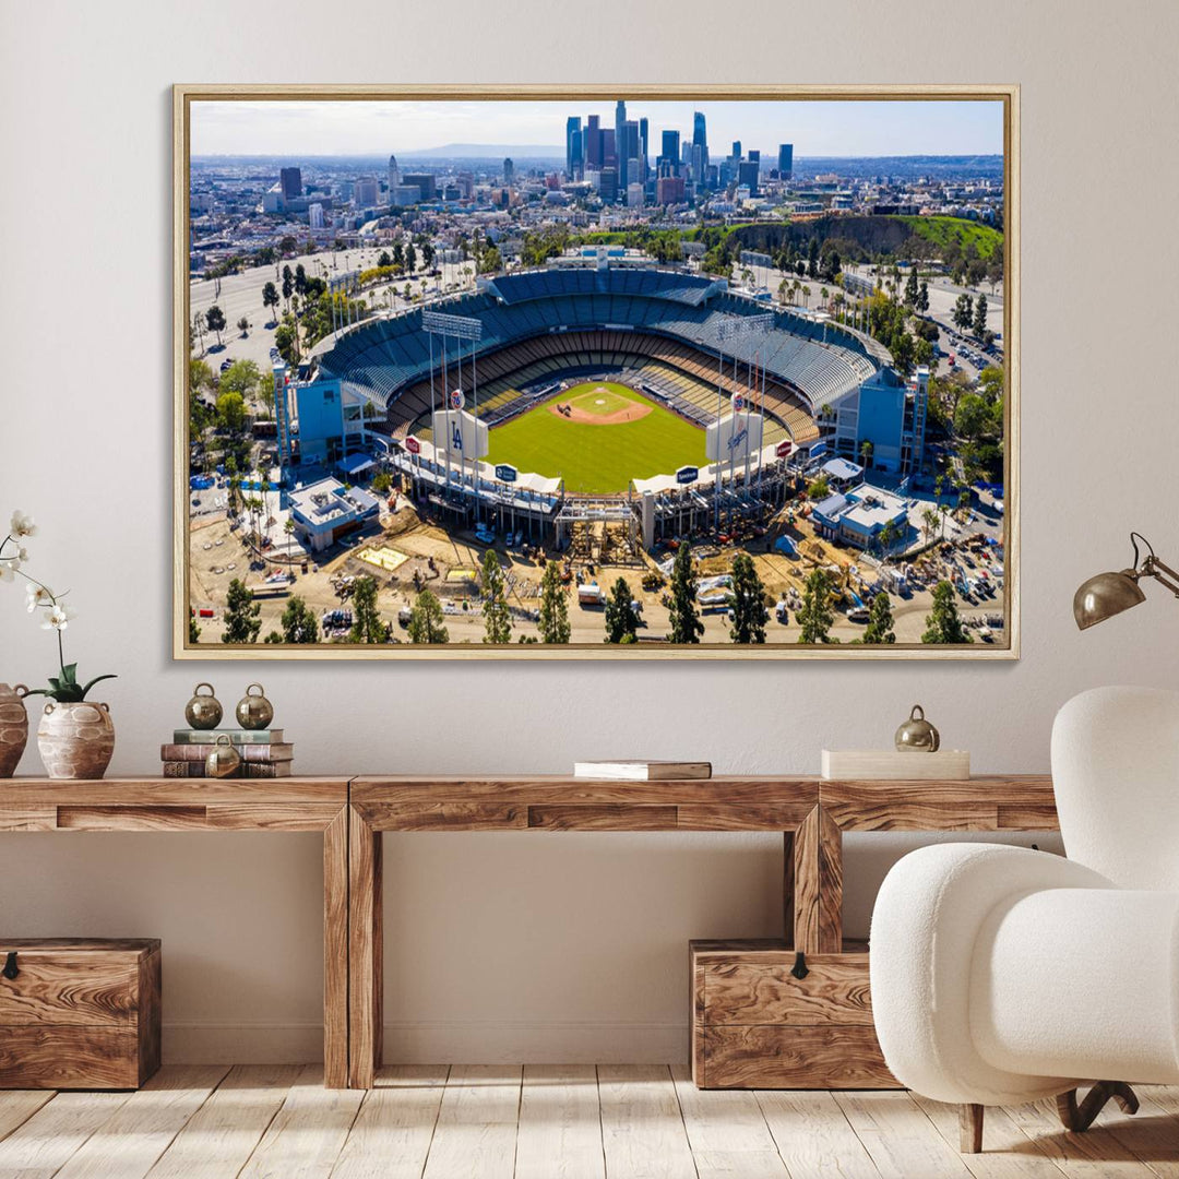
M304 1065L242 1179L328 1179L363 1100L363 1089L325 1089L323 1066Z

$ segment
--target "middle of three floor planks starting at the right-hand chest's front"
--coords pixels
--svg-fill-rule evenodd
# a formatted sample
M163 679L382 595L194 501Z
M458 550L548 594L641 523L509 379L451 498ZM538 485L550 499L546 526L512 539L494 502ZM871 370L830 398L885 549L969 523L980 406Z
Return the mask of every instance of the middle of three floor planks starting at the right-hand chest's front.
M880 1179L863 1142L825 1089L759 1089L757 1102L791 1179Z

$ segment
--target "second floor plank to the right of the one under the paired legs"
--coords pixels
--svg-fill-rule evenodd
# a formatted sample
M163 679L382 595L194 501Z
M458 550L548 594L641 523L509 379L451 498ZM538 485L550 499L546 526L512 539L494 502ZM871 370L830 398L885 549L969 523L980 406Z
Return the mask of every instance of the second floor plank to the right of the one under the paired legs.
M512 1179L520 1117L519 1065L454 1065L424 1179Z

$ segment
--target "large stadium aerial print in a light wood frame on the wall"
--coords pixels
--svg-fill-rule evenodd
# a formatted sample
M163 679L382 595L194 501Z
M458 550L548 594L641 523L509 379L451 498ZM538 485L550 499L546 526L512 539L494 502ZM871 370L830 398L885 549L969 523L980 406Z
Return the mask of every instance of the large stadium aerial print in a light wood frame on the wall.
M178 658L1017 658L1017 87L174 136Z

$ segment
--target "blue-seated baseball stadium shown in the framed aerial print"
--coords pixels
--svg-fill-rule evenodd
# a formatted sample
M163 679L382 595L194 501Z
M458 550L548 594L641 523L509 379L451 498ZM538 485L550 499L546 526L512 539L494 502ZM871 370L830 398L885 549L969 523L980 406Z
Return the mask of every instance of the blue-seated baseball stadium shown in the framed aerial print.
M342 324L285 413L278 399L282 459L295 433L302 462L383 446L450 527L560 547L575 525L607 520L650 547L771 515L821 424L824 449L855 455L855 414L849 433L836 408L896 384L874 341L723 279L562 261Z

